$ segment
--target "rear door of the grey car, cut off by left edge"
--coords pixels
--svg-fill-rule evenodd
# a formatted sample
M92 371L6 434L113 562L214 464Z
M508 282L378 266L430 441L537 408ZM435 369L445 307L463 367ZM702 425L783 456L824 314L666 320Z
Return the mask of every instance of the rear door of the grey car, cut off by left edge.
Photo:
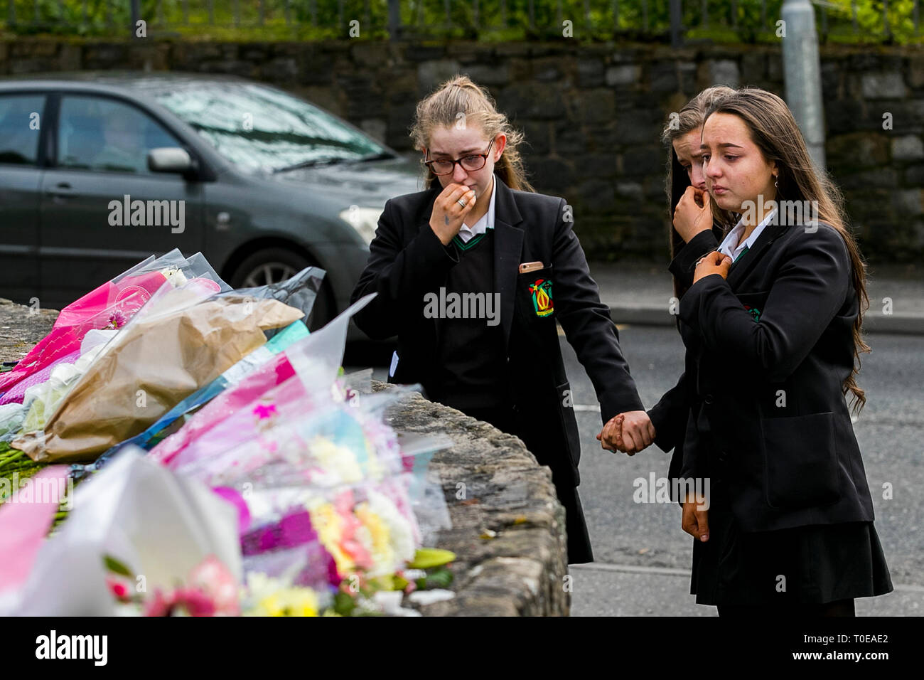
M0 297L39 296L44 93L0 93Z

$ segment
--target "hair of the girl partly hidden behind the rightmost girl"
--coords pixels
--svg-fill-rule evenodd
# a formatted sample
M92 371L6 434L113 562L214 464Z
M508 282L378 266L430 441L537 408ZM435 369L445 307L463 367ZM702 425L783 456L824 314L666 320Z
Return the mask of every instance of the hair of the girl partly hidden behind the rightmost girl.
M677 158L677 153L674 150L674 141L688 132L701 128L703 120L706 119L706 110L722 97L732 93L735 93L735 90L725 85L713 85L706 88L688 101L680 109L676 117L672 115L664 125L664 130L661 133L661 141L667 146L667 181L664 184L664 191L667 192L667 229L672 260L684 246L684 240L680 238L680 234L674 229L674 209L690 185L687 169L680 165L680 159ZM716 232L716 238L719 238L723 230L734 226L734 222L731 222L730 213L715 204L711 196L709 200L712 203L713 230ZM728 222L731 222L731 224L728 224ZM675 296L680 298L685 292L687 292L687 288L681 286L679 281L674 278Z

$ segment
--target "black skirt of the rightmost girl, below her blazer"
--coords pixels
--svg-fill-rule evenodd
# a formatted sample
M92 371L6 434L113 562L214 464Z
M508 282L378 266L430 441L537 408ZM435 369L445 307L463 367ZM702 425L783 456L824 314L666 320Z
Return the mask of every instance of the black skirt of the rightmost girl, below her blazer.
M788 606L892 592L872 522L745 532L713 488L709 540L693 543L690 593L699 604Z

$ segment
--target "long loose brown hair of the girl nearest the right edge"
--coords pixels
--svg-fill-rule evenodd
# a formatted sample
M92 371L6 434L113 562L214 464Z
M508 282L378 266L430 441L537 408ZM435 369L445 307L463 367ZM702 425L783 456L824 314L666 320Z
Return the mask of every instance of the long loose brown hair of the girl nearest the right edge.
M779 168L776 180L777 201L817 201L818 218L831 225L844 239L850 254L851 276L857 291L859 310L854 322L854 368L844 381L844 394L853 393L853 409L858 413L866 404L866 393L857 387L860 352L869 352L863 340L863 312L869 308L866 290L866 263L857 241L847 229L844 196L827 172L816 167L796 119L786 103L777 95L759 88L742 88L716 101L706 112L727 113L741 118L750 130L764 161L775 162ZM705 123L705 120L703 121Z

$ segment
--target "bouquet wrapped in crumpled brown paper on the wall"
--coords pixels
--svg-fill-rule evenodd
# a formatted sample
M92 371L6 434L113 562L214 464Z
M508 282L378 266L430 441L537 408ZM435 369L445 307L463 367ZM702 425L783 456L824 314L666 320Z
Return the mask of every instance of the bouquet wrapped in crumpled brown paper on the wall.
M260 347L264 328L302 315L275 300L213 297L216 285L195 278L158 291L104 345L43 429L13 446L36 461L94 460Z

